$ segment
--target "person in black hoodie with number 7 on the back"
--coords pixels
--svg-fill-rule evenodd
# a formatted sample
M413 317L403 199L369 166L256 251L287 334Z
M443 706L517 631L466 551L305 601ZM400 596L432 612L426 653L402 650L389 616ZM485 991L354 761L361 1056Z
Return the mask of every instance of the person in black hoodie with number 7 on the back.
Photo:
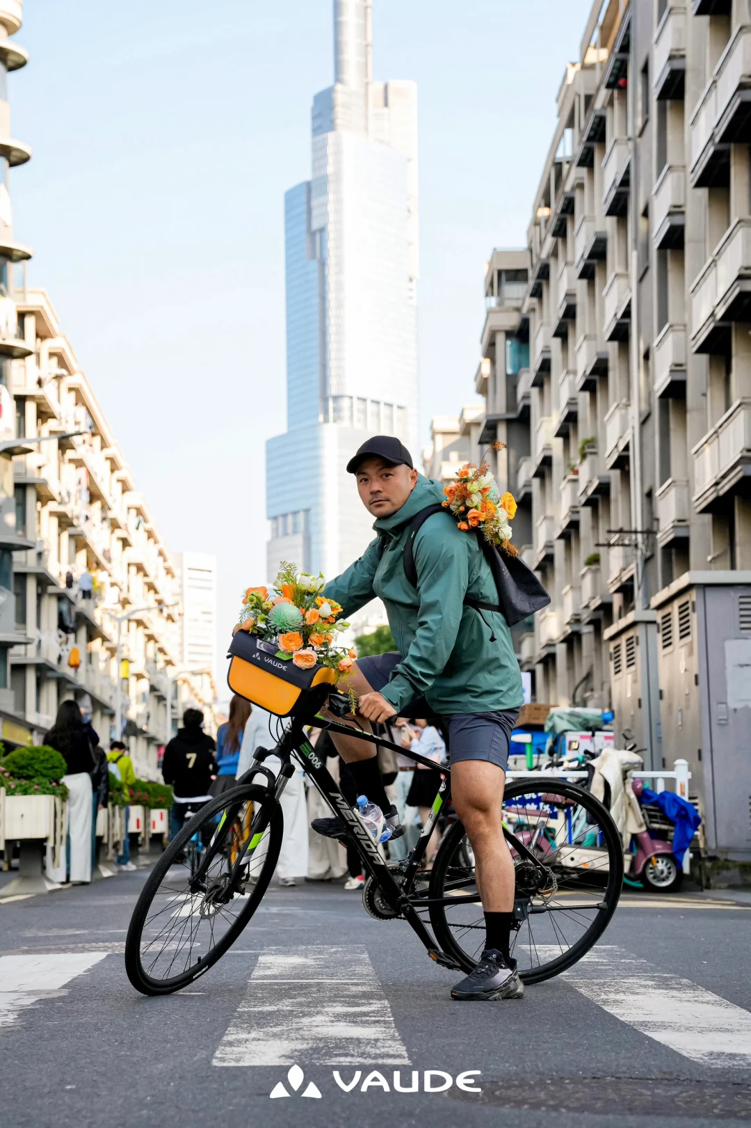
M161 765L165 783L175 792L169 812L170 837L174 838L188 814L194 813L211 799L209 788L217 775L213 739L203 731L203 713L186 708L183 728L167 744Z

